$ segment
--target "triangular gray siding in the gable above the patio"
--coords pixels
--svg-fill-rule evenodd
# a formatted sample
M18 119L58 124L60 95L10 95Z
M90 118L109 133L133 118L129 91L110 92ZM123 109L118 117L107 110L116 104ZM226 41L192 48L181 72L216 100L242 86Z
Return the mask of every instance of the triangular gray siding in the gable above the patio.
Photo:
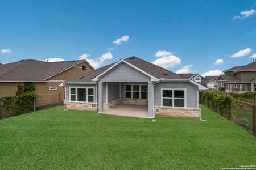
M100 82L149 82L151 78L140 71L121 63L100 78Z

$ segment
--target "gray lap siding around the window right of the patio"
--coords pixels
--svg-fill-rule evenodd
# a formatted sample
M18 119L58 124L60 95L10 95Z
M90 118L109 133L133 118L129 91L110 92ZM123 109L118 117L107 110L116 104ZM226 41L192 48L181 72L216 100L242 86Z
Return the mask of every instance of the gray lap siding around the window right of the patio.
M197 108L197 88L188 82L160 82L154 84L154 106L161 105L161 88L187 88L187 108Z

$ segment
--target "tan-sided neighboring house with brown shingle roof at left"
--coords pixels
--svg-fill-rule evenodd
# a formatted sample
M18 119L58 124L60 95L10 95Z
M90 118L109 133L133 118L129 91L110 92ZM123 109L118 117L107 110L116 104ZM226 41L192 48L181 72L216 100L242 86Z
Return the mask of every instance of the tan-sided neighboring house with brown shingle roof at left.
M44 62L26 59L0 65L0 98L16 95L18 84L36 83L37 105L59 103L64 80L94 70L86 60Z

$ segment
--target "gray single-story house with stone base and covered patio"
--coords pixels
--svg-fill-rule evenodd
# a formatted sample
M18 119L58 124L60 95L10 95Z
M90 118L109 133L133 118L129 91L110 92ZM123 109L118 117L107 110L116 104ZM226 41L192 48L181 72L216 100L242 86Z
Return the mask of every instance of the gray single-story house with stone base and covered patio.
M155 114L200 118L199 90L207 89L137 57L121 59L63 84L67 108L148 118Z

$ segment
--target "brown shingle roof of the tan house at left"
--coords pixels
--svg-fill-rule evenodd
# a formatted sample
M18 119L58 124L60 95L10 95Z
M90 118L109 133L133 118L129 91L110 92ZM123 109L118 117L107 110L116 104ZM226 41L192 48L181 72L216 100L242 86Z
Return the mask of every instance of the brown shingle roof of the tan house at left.
M85 60L44 62L35 59L0 65L1 81L42 81Z

